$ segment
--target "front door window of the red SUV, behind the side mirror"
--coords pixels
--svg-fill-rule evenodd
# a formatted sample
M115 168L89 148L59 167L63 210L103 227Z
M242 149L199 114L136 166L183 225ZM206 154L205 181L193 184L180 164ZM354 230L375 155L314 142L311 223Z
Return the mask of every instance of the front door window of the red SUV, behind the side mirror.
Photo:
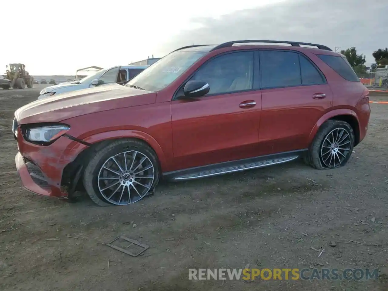
M206 81L210 87L207 95L251 90L253 62L253 52L220 55L203 64L191 80Z

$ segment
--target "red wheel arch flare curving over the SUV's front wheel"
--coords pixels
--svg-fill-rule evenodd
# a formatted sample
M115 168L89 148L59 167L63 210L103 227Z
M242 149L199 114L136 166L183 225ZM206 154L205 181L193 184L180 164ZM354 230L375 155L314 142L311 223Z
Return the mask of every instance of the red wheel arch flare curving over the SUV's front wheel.
M145 141L147 144L151 145L152 149L154 149L156 152L161 170L164 171L166 168L168 168L167 159L162 147L151 135L140 130L113 130L109 132L100 132L84 138L83 141L87 142L88 144L95 144L97 142L102 142L109 139L122 138L135 138Z

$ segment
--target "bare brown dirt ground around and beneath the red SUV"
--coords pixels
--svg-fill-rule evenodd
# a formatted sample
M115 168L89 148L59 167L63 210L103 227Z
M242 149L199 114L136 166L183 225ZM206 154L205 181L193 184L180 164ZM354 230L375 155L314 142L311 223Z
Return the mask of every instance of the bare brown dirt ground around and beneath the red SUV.
M388 290L387 104L371 104L367 137L343 168L319 171L296 161L161 184L155 196L132 206L102 208L86 196L68 203L21 188L12 118L42 88L0 89L0 290ZM388 101L388 94L371 100ZM150 247L132 257L105 245L120 235ZM338 242L349 240L379 246ZM188 279L187 268L248 264L379 268L380 275L369 281Z

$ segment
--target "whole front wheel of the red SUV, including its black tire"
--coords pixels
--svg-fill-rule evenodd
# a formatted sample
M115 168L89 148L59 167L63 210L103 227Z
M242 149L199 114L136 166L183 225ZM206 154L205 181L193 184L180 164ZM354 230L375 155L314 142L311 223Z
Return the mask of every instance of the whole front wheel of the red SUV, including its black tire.
M142 163L139 164L140 161ZM139 169L144 171L140 172ZM83 175L83 185L92 201L99 206L128 205L152 194L159 178L159 162L154 150L139 140L120 139L105 142L90 154Z

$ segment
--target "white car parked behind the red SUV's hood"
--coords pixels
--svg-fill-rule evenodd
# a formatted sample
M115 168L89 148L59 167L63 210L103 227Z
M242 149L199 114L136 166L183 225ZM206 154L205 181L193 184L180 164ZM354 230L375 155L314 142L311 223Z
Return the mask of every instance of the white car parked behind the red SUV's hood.
M115 66L103 69L94 75L87 76L80 81L65 82L54 86L49 86L40 91L39 99L47 98L75 90L81 90L110 83L123 83L131 80L137 74L149 66Z

